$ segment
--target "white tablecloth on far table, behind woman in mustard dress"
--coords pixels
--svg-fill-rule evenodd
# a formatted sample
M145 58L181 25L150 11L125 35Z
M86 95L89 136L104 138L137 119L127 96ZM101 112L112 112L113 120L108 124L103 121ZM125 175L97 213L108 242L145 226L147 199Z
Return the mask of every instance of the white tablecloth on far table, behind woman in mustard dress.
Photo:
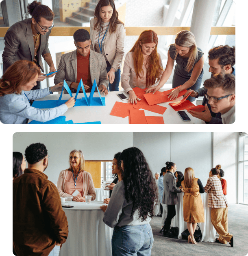
M179 228L178 238L182 238L182 232L187 229L187 222L183 220L183 195L184 193L178 194L179 203L176 205L176 216L174 220L174 227ZM202 232L202 241L204 242L215 242L215 229L211 223L211 208L208 207L209 194L200 194L202 198L202 204L204 208L204 223L198 223Z

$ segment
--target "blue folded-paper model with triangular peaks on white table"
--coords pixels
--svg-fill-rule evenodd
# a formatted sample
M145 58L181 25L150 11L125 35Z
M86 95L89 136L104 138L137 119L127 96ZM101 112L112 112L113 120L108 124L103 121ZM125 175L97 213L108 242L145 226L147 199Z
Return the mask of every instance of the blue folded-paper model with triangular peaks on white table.
M72 97L72 92L71 92L69 86L67 85L67 83L64 80L63 88L61 90L61 94L60 94L58 100L35 100L33 102L32 107L35 107L35 108L55 108L57 106L60 106L60 105L64 104L65 102L67 102L67 99L61 100L64 88L65 88L65 90L67 90L67 93L69 93L70 96ZM80 91L80 88L83 89L83 93L84 93L85 97L82 97L81 99L78 99L77 97L78 97L78 93ZM96 88L97 88L99 97L93 97ZM75 103L74 107L77 107L77 106L105 106L105 98L101 97L101 95L100 95L100 92L99 92L98 87L96 85L96 79L94 80L94 84L91 88L91 92L90 92L89 97L85 93L85 88L83 86L82 79L80 80L80 83L78 84L77 92L76 92L76 95L75 95L75 101L76 101L76 103Z

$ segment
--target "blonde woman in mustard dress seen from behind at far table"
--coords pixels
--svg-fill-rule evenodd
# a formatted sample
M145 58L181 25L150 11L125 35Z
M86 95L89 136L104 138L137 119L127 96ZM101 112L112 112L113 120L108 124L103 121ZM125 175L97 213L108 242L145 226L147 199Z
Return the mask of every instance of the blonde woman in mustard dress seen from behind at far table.
M195 178L195 172L190 167L185 169L182 187L184 191L183 219L187 222L189 230L188 242L196 244L194 232L197 223L204 222L204 209L200 193L204 193L205 190L200 179Z

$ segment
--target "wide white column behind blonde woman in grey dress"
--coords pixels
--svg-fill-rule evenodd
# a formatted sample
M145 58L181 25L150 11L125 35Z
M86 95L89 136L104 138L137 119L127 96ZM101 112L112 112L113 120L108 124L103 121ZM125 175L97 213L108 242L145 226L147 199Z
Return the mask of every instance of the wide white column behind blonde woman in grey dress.
M213 21L216 0L195 0L190 31L196 38L196 44L208 55L208 42Z

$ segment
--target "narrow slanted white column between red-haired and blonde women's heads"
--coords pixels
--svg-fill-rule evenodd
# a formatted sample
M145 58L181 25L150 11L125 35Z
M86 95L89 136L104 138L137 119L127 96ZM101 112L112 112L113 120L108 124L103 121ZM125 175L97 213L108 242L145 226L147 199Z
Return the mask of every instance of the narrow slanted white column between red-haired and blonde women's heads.
M169 9L165 15L162 26L172 26L174 19L176 17L176 11L178 10L178 6L181 0L171 0ZM167 35L161 35L159 38L159 47L163 47L166 43Z

